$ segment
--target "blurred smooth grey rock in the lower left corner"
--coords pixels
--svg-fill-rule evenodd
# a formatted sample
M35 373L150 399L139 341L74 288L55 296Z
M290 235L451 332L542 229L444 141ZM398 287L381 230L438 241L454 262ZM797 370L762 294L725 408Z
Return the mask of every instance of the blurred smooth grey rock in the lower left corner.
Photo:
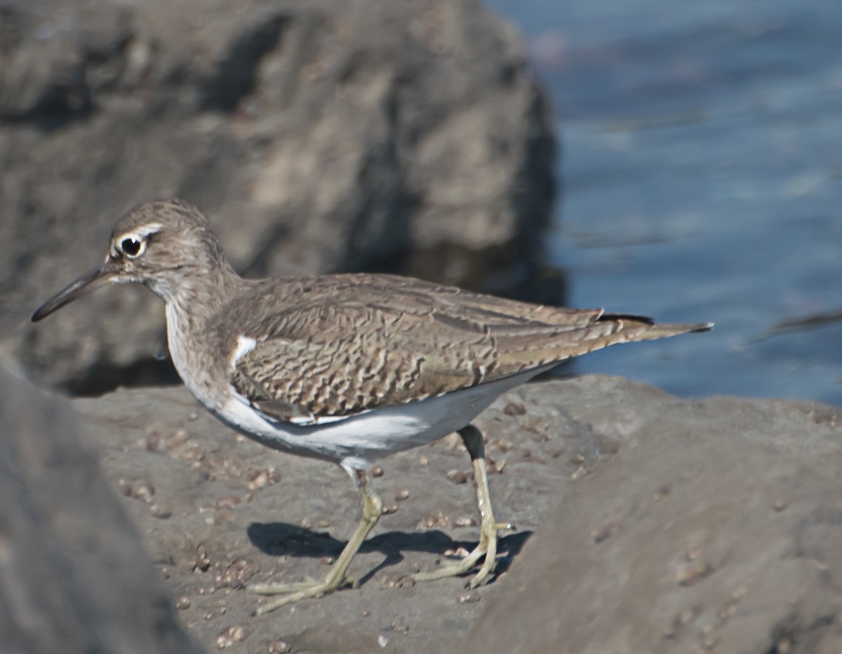
M0 649L199 652L67 402L0 370Z

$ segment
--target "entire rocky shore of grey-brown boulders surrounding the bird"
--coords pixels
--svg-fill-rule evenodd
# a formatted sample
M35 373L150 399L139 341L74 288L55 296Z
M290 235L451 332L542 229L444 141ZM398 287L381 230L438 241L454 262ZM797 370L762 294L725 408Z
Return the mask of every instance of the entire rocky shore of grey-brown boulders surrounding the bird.
M451 436L382 461L359 588L255 619L248 583L319 577L341 550L344 472L168 385L142 290L29 324L117 215L163 195L200 205L247 276L368 269L557 301L555 155L519 36L474 0L2 3L0 650L842 650L834 407L526 385L477 421L518 527L493 582L408 580L477 539Z

